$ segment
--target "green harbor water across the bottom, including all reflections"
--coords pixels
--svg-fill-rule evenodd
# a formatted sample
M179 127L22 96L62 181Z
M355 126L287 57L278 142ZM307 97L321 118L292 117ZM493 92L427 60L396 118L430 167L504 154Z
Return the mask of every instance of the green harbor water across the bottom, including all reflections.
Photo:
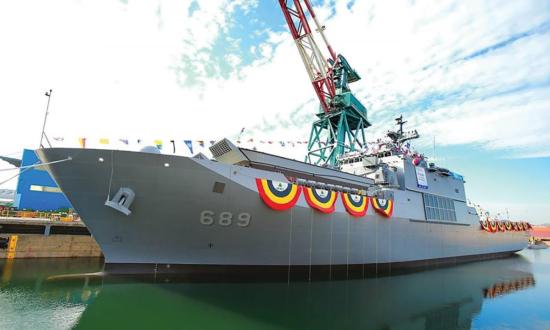
M52 278L102 266L0 260L0 329L550 329L550 249L347 281Z

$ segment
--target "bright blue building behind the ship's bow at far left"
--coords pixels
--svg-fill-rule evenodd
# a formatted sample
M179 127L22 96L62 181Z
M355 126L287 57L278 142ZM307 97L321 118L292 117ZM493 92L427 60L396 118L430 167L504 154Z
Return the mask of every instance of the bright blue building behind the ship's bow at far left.
M40 163L33 150L23 150L21 166ZM15 192L14 206L18 209L36 211L55 211L72 208L67 197L60 192L50 174L40 168L20 170L19 181Z

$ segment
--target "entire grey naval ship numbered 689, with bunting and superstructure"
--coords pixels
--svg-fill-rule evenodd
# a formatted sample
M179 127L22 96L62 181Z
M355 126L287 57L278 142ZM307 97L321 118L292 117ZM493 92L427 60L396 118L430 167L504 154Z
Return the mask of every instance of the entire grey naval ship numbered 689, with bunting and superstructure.
M524 249L528 232L515 224L483 230L462 176L406 150L416 137L401 125L337 167L227 139L210 147L212 159L155 149L36 152L114 274L336 278Z

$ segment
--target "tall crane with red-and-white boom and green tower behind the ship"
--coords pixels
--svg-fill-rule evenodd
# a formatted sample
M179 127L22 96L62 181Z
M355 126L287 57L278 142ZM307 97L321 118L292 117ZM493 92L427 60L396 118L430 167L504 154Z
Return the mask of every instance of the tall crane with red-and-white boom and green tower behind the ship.
M337 166L342 155L366 145L367 109L348 87L361 77L342 55L336 55L309 0L279 0L279 5L321 104L319 119L311 126L306 161ZM315 41L308 18L321 35L327 58Z

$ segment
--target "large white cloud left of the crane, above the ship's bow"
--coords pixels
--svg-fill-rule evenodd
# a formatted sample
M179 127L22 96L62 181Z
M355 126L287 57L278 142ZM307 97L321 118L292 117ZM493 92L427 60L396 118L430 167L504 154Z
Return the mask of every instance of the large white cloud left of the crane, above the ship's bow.
M49 88L54 89L50 137L229 134L224 120L212 114L229 114L224 109L230 104L202 89L181 88L172 67L187 54L196 59L189 64L206 75L202 63L209 58L201 56L231 25L236 8L247 11L255 3L201 2L191 17L185 16L190 1L2 3L0 154L38 146L43 93ZM237 58L227 56L237 65ZM213 92L224 89L225 82L217 79L209 87ZM235 121L226 117L226 122ZM209 122L214 125L204 128Z

